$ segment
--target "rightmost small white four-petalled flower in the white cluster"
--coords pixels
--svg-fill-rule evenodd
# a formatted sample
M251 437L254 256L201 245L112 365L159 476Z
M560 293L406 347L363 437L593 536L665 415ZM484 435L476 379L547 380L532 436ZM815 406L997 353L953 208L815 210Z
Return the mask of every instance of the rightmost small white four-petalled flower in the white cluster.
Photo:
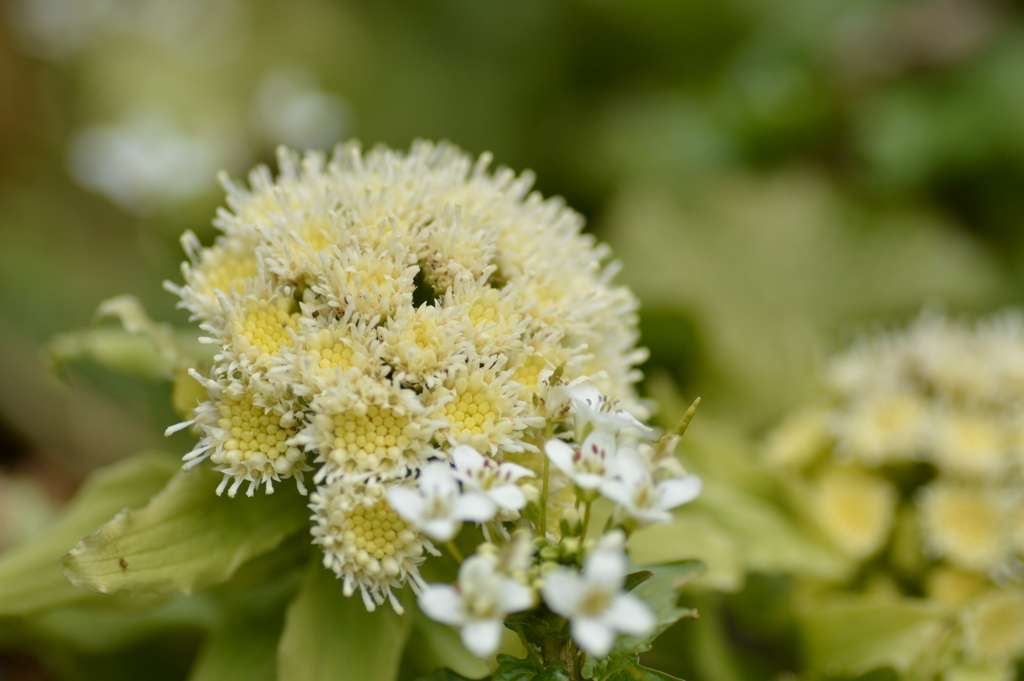
M670 522L670 511L696 499L700 486L696 475L655 481L646 462L624 449L615 457L615 477L601 483L601 495L620 504L636 520Z

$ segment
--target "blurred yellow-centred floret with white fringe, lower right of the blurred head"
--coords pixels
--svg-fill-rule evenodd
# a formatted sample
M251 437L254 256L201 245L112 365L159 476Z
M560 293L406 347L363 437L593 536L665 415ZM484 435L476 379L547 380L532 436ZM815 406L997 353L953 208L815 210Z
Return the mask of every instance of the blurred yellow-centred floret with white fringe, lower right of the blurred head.
M985 487L929 485L921 500L926 545L953 564L989 571L1006 557L997 500Z

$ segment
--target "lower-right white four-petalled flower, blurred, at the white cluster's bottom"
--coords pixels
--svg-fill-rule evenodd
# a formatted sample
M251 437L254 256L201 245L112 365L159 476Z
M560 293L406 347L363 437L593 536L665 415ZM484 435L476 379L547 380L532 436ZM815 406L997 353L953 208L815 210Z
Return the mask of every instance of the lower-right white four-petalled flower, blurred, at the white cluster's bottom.
M583 571L553 570L541 590L548 606L569 621L572 640L595 657L608 654L617 632L644 636L654 628L650 607L623 591L625 543L621 530L608 533L587 557Z

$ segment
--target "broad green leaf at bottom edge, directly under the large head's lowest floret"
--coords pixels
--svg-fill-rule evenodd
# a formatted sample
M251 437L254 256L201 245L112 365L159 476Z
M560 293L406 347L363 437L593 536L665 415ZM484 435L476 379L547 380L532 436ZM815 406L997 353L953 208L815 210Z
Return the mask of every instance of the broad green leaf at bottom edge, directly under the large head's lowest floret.
M358 595L346 598L341 582L319 561L288 606L278 648L281 681L392 681L413 616L384 605L368 612Z

